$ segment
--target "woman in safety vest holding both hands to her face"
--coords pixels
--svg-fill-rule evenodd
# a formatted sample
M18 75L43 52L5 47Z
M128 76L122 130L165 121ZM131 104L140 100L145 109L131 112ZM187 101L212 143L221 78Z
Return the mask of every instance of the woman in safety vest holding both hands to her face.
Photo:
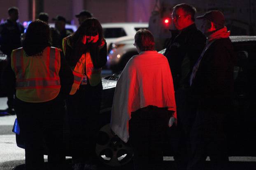
M63 39L63 52L73 70L74 83L67 98L75 170L96 168L96 136L102 95L101 68L107 62L107 44L96 18L86 19Z

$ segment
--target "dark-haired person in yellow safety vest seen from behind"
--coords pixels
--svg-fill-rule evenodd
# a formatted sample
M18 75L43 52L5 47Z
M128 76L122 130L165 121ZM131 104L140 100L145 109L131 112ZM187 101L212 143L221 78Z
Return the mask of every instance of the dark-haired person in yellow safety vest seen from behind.
M44 169L44 146L49 169L62 170L64 99L73 74L61 49L51 47L47 23L30 23L23 47L12 51L6 71L5 84L16 88L14 109L25 141L26 170Z

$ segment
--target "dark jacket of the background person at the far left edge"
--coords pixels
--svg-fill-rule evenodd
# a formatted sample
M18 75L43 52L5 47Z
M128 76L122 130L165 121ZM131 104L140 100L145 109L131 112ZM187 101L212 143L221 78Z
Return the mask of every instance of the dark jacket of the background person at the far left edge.
M21 23L13 24L7 20L0 25L0 50L9 58L12 50L21 47L21 34L24 27Z

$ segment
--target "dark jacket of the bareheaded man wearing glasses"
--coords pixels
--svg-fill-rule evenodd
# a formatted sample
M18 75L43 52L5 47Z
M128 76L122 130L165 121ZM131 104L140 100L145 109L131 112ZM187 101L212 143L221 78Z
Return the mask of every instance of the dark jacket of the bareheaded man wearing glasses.
M190 74L205 47L205 41L205 36L195 24L169 40L164 55L169 61L175 89L189 87Z

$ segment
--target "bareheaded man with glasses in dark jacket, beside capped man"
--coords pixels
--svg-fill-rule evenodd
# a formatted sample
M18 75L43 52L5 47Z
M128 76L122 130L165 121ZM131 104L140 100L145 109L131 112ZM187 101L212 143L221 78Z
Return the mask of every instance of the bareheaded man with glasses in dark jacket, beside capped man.
M196 9L188 4L179 4L173 8L172 20L179 34L170 39L165 57L172 70L177 105L177 127L170 129L170 140L174 148L177 169L185 170L187 164L187 143L195 110L189 97L189 76L200 57L206 38L195 26Z

